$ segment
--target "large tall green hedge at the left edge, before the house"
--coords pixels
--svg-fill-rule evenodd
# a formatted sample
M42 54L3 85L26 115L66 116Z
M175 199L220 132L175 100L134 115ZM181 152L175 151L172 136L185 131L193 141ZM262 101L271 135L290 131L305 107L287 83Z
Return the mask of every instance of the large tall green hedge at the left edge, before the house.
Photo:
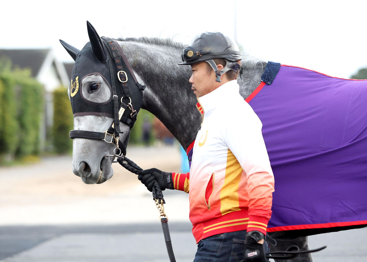
M0 61L0 162L39 153L43 87L29 70Z

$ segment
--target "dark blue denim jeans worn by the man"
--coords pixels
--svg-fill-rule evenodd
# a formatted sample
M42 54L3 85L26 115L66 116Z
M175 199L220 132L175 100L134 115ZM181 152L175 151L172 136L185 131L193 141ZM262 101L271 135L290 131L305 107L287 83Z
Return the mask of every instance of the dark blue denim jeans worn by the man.
M194 262L238 262L244 259L243 244L246 230L217 234L204 238L197 244ZM264 243L269 252L268 243Z

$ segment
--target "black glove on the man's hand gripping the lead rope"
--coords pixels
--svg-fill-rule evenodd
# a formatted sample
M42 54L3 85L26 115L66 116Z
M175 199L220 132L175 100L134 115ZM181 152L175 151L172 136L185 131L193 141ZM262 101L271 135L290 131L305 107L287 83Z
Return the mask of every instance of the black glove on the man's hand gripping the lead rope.
M138 179L152 192L154 181L156 180L161 190L174 189L172 173L163 172L156 168L138 171Z

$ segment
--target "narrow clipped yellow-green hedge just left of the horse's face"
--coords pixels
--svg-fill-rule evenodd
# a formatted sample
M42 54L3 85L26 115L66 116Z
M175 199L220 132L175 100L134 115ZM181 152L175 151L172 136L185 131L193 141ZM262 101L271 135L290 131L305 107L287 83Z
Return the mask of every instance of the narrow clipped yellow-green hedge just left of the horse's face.
M73 140L69 138L69 131L73 129L73 112L66 87L54 90L54 125L53 144L55 151L64 154L72 150Z

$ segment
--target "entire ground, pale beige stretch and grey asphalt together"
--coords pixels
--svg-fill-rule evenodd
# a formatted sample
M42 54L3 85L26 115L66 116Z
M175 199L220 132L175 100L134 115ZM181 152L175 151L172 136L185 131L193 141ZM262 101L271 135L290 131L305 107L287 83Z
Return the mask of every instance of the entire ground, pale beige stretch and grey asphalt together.
M177 147L129 148L143 168L179 171ZM152 157L153 156L153 157ZM168 261L158 211L135 175L86 185L71 172L71 157L0 168L1 262ZM188 195L164 192L178 262L192 261L196 244L188 223ZM314 262L367 261L366 229L311 236L310 248L328 245Z

